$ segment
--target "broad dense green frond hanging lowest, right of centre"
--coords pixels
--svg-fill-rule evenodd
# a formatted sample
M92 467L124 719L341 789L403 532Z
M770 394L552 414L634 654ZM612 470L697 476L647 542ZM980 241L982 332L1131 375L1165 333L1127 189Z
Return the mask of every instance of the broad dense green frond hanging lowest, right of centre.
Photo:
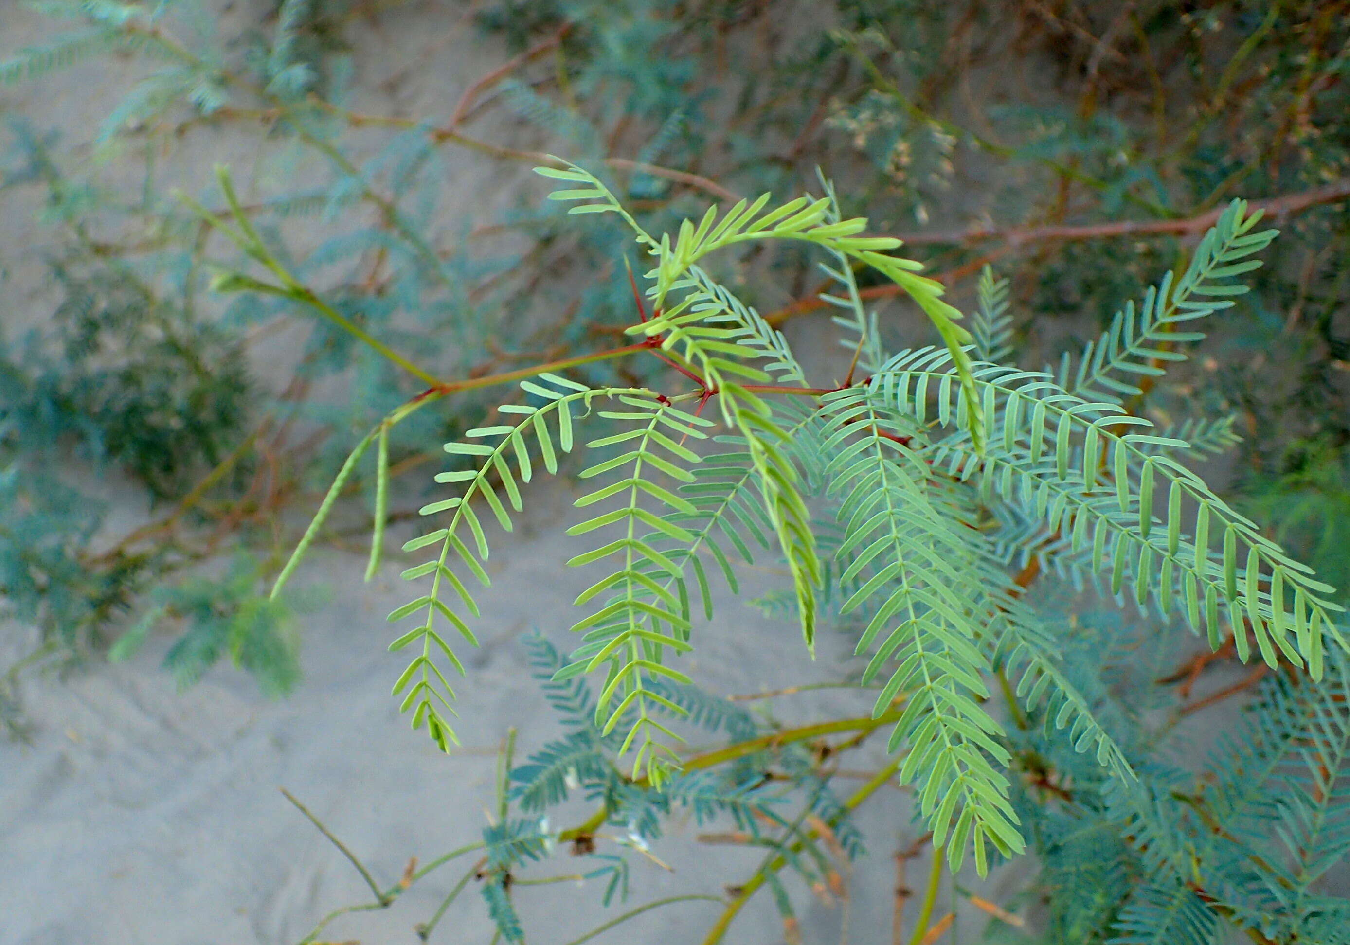
M848 522L840 551L852 555L849 571L871 568L842 609L848 613L878 595L884 601L857 644L859 652L879 644L863 682L890 662L898 664L872 714L880 717L895 699L905 702L890 742L892 752L909 744L900 778L918 782L933 842L946 845L953 869L973 842L983 873L987 844L1010 855L1025 841L1007 778L992 763L1007 767L1011 757L999 741L1000 726L980 707L988 697L981 679L988 667L977 645L977 616L988 608L979 552L960 520L930 505L929 467L905 441L911 428L865 390L830 394L825 404L833 429L830 473L842 498L840 518Z

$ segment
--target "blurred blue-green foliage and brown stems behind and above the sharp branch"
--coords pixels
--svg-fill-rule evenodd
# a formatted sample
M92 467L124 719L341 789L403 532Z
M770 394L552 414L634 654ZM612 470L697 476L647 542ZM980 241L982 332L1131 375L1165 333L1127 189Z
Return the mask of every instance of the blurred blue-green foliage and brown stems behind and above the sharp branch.
M540 153L605 169L656 230L713 200L810 189L824 167L845 216L905 238L959 300L984 263L1011 277L1027 364L1099 332L1226 201L1264 201L1285 235L1256 290L1148 410L1234 414L1228 497L1350 587L1350 4L30 7L49 27L3 51L0 82L84 69L115 77L116 107L97 128L4 109L0 200L35 209L46 267L0 340L0 593L12 626L36 628L9 697L19 668L113 644L123 657L161 625L181 683L232 656L286 691L297 639L259 595L358 431L417 393L294 300L211 290L242 263L178 192L220 209L224 134L243 142L235 178L277 256L446 379L614 346L632 321L624 234L580 236L537 186L510 186ZM363 58L386 18L477 31L495 61L433 108L367 111L390 96L363 82L389 92L416 69ZM760 297L753 267L775 274ZM826 317L790 250L729 277L794 336ZM899 340L910 313L860 278ZM400 425L394 474L486 404ZM370 478L348 481L327 540L359 533ZM402 486L396 520L416 491ZM113 501L143 516L128 525Z

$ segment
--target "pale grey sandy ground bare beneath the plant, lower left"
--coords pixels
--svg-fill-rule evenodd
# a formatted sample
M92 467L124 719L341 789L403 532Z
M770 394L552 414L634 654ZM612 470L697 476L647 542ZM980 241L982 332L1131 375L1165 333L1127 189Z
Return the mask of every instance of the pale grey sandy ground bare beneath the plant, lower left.
M493 748L508 726L525 733L524 751L559 730L526 676L520 636L537 626L566 645L571 597L587 583L586 575L556 566L579 541L551 521L560 498L536 516L545 520L540 528L493 556L498 571L483 595L483 648L466 660L470 678L460 688L458 730L466 749L454 756L410 732L389 697L401 664L385 652L383 614L408 597L397 563L370 587L360 585L354 558L320 558L308 570L310 580L317 572L327 582L329 602L302 618L306 678L282 702L263 699L243 674L228 670L177 694L154 652L63 683L26 686L34 742L0 745L0 945L279 945L301 938L325 911L369 894L279 786L382 884L398 878L409 856L425 863L477 840L493 803ZM714 691L836 678L842 640L825 640L813 664L795 628L761 620L736 601L726 601L722 614L699 633L694 666ZM865 710L865 697L856 693L783 702L788 720ZM860 756L856 767L872 760ZM568 810L580 819L587 807L578 802ZM909 829L906 810L896 791L867 809L863 825L880 846L856 865L846 909L802 898L806 941L838 941L845 911L850 941L890 941L890 857ZM629 906L682 892L718 894L749 875L753 857L699 846L691 842L695 832L684 824L655 846L671 872L629 855ZM531 873L567 873L574 864L564 856ZM427 921L466 865L433 873L387 911L335 923L328 937L416 942L413 925ZM918 864L911 868L922 875ZM525 890L531 941L560 945L617 914L599 907L599 895L597 884ZM713 903L671 906L598 941L699 941L716 910ZM481 899L466 895L433 941L486 945L490 936ZM767 896L742 915L729 941L782 941Z

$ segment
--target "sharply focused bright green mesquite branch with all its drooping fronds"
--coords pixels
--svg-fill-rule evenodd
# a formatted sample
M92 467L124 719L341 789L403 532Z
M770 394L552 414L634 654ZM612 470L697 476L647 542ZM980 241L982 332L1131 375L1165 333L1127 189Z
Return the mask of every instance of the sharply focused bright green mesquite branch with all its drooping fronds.
M578 448L590 456L580 477L595 487L576 501L585 518L568 533L594 535L594 548L567 564L598 579L576 598L579 645L552 678L595 676L598 737L617 733L629 782L652 790L682 770L670 721L690 709L672 693L693 683L680 659L697 644L695 624L713 618L710 572L736 590L733 560L749 560L755 544L786 562L807 647L822 595L863 618L863 683L880 683L872 717L894 722L888 749L899 779L914 784L952 869L973 855L983 875L991 857L1027 842L1010 792L1007 734L984 705L991 679L1011 688L1015 711L1048 703L1061 737L1091 753L1119 790L1137 778L1092 697L1065 671L1062 644L1021 599L1008 566L1027 549L1040 567L1096 582L1160 624L1174 617L1214 648L1231 633L1243 662L1297 667L1314 682L1328 662L1341 666L1332 589L1183 463L1185 440L1126 409L1141 378L1184 356L1173 346L1203 338L1179 328L1231 306L1245 292L1237 277L1261 265L1254 256L1276 234L1257 230L1260 213L1247 215L1242 201L1223 212L1184 271L1164 277L1080 358L1048 373L996 360L1006 288L991 274L972 336L941 286L894 255L899 240L864 236L865 220L840 219L828 185L822 197L778 207L768 194L726 212L714 207L655 236L598 178L559 163L537 169L563 185L551 197L570 202L571 213L622 217L649 263L640 274L640 321L626 329L634 343L590 358L655 356L674 385L591 387L568 378L568 364L521 371L524 400L500 408L502 423L446 446L471 466L436 477L456 494L421 509L435 528L404 545L425 555L404 571L417 593L390 614L410 624L390 644L410 653L393 693L441 749L455 740L450 680L464 672L455 645L477 645L473 587L489 585L490 522L510 531L524 487ZM217 286L305 297L262 248L228 186L227 196L236 207L227 232L281 284L227 274ZM801 240L832 256L826 271L841 289L830 298L845 312L838 321L853 350L842 383L810 386L784 338L699 265L755 240ZM899 285L942 344L880 351L859 302L856 265ZM385 483L390 427L448 393L452 386L428 389L356 446L277 591L370 446ZM587 439L582 431L595 420L617 432ZM1231 436L1206 425L1192 432ZM385 505L377 502L373 567ZM821 510L838 528L828 548Z

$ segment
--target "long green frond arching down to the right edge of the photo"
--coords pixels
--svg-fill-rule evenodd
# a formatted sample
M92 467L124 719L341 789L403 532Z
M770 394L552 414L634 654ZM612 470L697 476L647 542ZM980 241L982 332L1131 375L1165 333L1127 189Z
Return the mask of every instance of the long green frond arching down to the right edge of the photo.
M944 440L936 447L936 463L963 478L977 474L986 494L996 491L1069 535L1073 551L1091 545L1094 571L1111 564L1112 593L1129 582L1141 605L1152 597L1164 613L1180 609L1193 629L1207 629L1215 647L1224 630L1222 603L1242 659L1250 651L1245 629L1250 626L1266 663L1276 666L1282 652L1295 664L1307 662L1320 678L1319 628L1334 633L1327 612L1341 609L1324 597L1332 589L1197 475L1149 451L1184 448L1183 441L1118 432L1153 424L1112 404L1075 397L1040 371L980 364L973 375L977 398L971 400L948 363L946 352L905 352L871 385L878 397L913 410L919 423L933 389L941 424L981 413L986 429L999 432L986 454L963 447L961 436Z

